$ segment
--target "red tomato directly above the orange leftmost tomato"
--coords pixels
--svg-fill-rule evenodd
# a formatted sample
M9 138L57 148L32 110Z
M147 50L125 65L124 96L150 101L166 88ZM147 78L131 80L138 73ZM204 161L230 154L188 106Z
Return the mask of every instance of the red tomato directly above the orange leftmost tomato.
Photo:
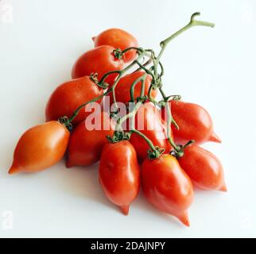
M52 121L57 120L59 117L71 117L74 111L84 102L88 102L102 94L103 89L91 81L88 76L63 83L53 91L48 99L45 108L45 119L46 121ZM98 102L101 102L101 99ZM72 124L77 125L88 114L84 108L81 109Z

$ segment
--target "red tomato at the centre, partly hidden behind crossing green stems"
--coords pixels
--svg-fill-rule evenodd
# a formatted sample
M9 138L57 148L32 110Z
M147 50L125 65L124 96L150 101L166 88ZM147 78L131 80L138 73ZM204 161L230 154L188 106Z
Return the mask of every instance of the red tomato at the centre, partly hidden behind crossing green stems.
M145 75L144 71L136 71L134 73L130 73L124 77L122 77L117 86L114 89L115 92L115 99L117 102L130 102L130 87L134 83L134 81L142 75ZM149 87L152 81L151 75L147 75L145 78L145 89L144 94L148 95ZM137 83L134 87L134 99L138 98L141 94L141 88L142 88L142 81ZM151 95L153 98L157 97L157 90L152 90ZM110 94L111 97L111 103L113 103L113 94Z

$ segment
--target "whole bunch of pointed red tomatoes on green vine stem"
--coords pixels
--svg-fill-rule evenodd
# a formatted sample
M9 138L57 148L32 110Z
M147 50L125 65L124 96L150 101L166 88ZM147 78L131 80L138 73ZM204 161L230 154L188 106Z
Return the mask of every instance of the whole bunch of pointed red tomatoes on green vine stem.
M210 115L180 96L166 96L162 82L161 56L169 41L196 25L214 26L197 21L199 14L192 14L188 25L161 41L158 55L139 48L138 40L122 29L108 29L94 37L95 48L72 67L72 80L56 87L48 99L46 122L28 129L18 140L9 173L41 171L65 153L67 167L100 160L99 182L123 214L128 214L142 187L153 206L189 225L193 186L227 191L222 164L199 146L220 142ZM90 114L85 109L107 96L111 108L100 110L95 128L87 129ZM118 102L131 105L130 110L119 114ZM138 128L141 123L143 129Z

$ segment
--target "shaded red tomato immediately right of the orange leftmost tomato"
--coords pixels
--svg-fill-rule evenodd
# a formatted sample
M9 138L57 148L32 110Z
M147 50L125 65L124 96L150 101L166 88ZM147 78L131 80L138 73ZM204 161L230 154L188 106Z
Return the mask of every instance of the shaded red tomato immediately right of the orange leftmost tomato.
M113 133L114 122L107 113L99 115L99 121L95 122L95 129L92 130L87 128L86 121L82 121L73 130L69 140L67 167L86 166L97 162L104 144L108 142L106 136L112 136Z

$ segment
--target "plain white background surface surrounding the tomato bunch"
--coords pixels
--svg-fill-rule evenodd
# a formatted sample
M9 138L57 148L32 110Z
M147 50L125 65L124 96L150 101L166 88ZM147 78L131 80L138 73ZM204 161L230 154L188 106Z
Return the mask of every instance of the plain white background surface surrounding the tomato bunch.
M4 3L5 2L5 3ZM13 7L6 20L4 4ZM254 0L0 1L0 237L256 237L256 2ZM9 9L10 10L10 9ZM196 192L191 227L150 206L142 194L123 216L99 187L95 165L7 175L21 133L44 121L52 90L71 78L91 37L126 29L146 48L190 15L215 22L193 28L165 52L165 90L210 112L223 144L206 144L223 161L228 192ZM5 211L14 229L5 230Z

